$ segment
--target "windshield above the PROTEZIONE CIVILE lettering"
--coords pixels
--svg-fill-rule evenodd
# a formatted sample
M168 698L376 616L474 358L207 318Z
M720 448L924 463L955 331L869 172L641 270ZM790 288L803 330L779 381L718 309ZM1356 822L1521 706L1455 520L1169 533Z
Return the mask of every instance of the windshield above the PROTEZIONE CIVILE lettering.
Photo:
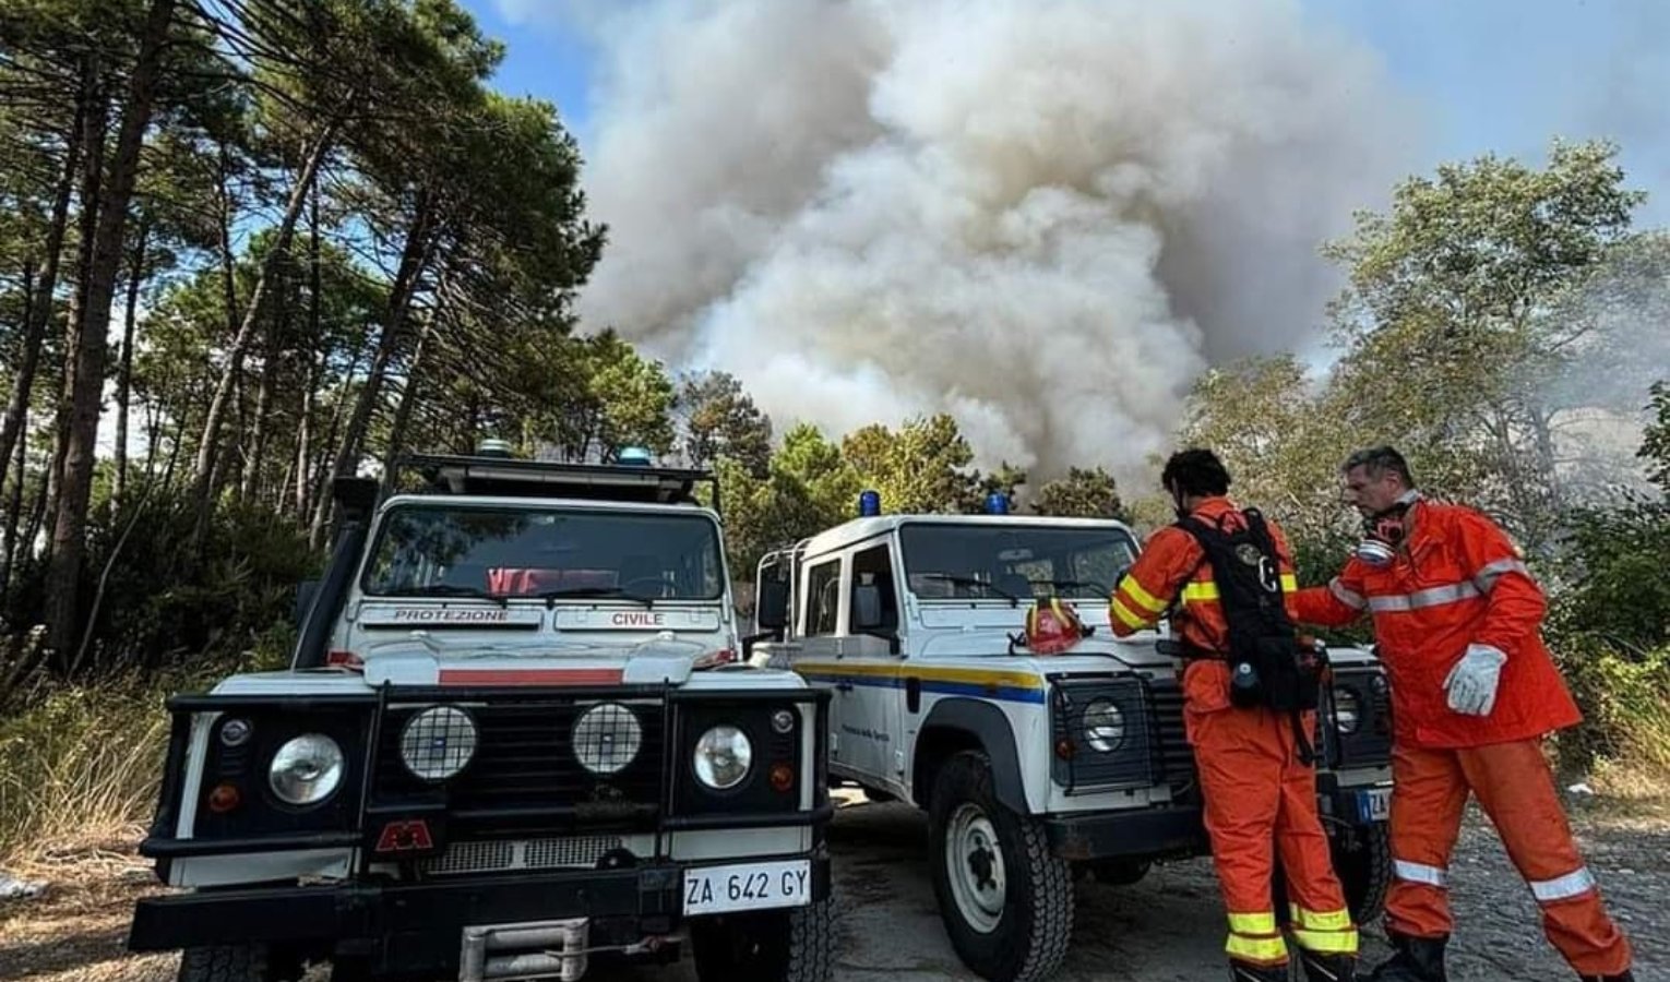
M404 504L361 588L372 596L718 600L718 526L700 514Z

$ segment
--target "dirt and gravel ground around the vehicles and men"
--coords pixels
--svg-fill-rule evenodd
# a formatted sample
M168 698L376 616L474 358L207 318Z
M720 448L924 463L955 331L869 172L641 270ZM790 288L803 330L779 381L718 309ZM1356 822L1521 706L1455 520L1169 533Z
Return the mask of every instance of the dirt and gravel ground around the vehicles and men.
M1573 803L1573 823L1613 915L1632 935L1637 979L1670 980L1670 822ZM832 830L838 890L838 982L972 979L945 940L927 877L927 823L903 805L853 798ZM52 887L33 900L0 900L0 979L28 982L162 982L170 955L122 950L132 902L157 887L132 855L78 848L30 865ZM1525 883L1488 823L1470 815L1453 863L1460 922L1450 977L1570 982L1548 945ZM1369 964L1384 935L1364 929ZM1222 977L1222 915L1209 862L1157 867L1141 883L1080 883L1072 954L1059 982L1181 982ZM693 982L688 959L668 972L595 972L601 982Z

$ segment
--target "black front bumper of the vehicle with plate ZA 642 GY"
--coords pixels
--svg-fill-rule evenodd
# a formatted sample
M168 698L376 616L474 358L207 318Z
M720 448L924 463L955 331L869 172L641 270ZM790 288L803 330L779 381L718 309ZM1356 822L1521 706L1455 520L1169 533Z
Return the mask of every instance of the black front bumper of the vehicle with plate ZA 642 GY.
M827 853L770 858L810 858L813 902L830 895ZM625 870L147 897L134 910L129 950L267 944L312 955L366 959L381 977L456 977L463 930L469 925L584 917L591 922L590 940L598 947L671 934L683 922L685 868L685 863L656 863Z

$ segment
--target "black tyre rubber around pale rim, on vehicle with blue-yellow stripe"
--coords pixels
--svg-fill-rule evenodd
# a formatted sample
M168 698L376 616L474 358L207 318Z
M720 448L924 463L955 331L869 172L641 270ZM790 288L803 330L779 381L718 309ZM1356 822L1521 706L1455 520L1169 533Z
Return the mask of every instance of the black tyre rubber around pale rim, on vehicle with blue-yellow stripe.
M984 812L1002 852L1004 904L990 932L980 932L960 914L947 868L947 825L964 803ZM1042 823L997 802L984 753L957 753L940 768L929 830L934 893L962 962L990 982L1037 982L1050 975L1072 940L1072 868L1050 855Z

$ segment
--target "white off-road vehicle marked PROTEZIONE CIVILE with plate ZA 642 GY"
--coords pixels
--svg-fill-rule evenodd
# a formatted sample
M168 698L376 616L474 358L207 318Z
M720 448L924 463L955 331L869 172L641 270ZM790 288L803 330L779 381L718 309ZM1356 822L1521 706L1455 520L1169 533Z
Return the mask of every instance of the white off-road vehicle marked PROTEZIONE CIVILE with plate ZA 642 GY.
M736 655L706 471L409 458L337 484L287 671L170 700L134 950L185 982L830 970L828 693ZM716 493L716 481L715 481ZM716 503L715 503L716 504Z

